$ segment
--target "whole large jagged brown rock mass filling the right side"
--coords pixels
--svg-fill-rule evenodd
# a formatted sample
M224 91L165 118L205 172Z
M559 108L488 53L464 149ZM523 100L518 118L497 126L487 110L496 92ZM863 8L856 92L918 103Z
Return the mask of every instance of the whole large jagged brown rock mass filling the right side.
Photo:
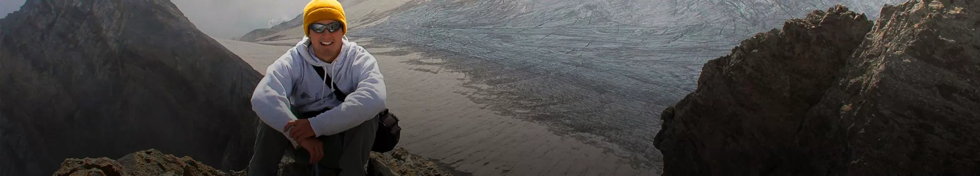
M663 110L664 175L980 173L978 6L912 0L873 26L838 6L757 34Z

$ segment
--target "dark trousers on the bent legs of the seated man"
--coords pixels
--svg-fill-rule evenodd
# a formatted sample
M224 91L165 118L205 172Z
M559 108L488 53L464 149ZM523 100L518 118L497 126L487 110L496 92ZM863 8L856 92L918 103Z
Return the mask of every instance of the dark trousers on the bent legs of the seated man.
M361 123L347 131L319 136L323 142L323 157L315 165L319 175L364 176L368 164L374 133L377 131L378 116ZM255 139L255 153L249 162L249 176L276 175L283 154L291 154L300 165L310 165L310 154L302 147L293 149L289 140L266 123L259 124ZM311 168L306 167L306 168ZM312 172L311 172L312 173Z

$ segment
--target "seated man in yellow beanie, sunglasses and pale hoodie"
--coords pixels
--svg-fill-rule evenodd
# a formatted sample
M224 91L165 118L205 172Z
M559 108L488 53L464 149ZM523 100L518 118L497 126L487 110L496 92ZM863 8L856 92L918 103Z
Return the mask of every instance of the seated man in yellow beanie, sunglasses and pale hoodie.
M307 37L267 68L252 95L252 110L265 123L249 175L275 175L284 153L313 163L320 175L365 175L376 115L385 110L377 61L344 37L347 22L336 0L307 4L303 28ZM344 101L335 89L347 94Z

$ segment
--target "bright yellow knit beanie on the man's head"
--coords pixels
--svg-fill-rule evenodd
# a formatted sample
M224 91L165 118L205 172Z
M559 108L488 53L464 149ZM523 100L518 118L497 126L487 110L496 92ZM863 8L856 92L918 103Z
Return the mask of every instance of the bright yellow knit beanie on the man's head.
M310 24L322 20L334 20L343 24L343 34L347 34L347 20L344 8L337 0L312 0L303 9L303 31L310 36ZM325 23L324 23L325 24Z

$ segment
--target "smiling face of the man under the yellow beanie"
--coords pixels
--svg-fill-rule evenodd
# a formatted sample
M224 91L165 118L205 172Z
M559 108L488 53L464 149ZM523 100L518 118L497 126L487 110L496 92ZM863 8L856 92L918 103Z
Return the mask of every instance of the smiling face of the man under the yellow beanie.
M314 23L328 25L332 22L337 21L323 20ZM313 26L313 24L310 26ZM337 55L340 54L341 45L344 43L343 25L341 25L341 28L333 32L330 32L329 30L317 32L312 28L307 28L307 30L310 30L310 44L313 45L313 52L317 54L317 58L332 62Z

